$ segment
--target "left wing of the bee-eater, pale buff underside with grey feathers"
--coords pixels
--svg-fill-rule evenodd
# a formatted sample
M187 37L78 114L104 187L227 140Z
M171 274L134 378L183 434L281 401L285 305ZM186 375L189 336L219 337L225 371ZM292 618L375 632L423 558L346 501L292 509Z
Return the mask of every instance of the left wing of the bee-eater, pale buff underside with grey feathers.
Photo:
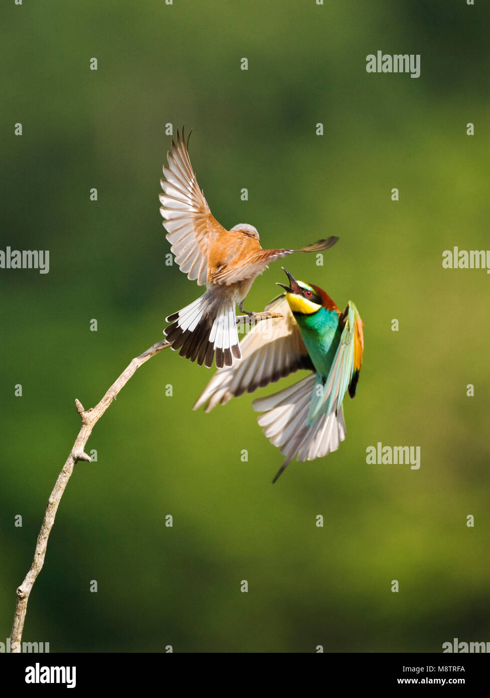
M195 410L209 400L205 410L209 412L233 396L275 383L297 369L315 370L285 294L265 306L265 311L281 313L283 317L262 320L246 334L240 342L242 360L216 371L195 403Z

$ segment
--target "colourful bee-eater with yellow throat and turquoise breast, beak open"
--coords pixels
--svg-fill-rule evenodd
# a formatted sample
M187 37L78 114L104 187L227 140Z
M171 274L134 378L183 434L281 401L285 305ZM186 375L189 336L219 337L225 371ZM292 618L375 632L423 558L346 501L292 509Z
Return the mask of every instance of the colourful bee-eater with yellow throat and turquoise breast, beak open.
M258 423L265 436L285 456L272 482L295 456L313 461L336 451L346 438L342 401L347 391L355 396L364 350L364 323L352 301L341 312L324 290L285 273L289 285L279 284L285 293L265 308L283 317L265 320L271 323L267 332L260 322L255 325L240 345L242 361L216 371L194 406L209 400L209 412L297 369L311 371L299 383L252 403L264 413Z

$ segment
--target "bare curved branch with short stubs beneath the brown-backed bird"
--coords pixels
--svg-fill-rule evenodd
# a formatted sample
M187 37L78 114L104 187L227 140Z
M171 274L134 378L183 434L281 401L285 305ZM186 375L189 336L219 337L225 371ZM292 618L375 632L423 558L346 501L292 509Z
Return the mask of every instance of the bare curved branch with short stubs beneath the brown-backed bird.
M277 313L254 313L254 315L256 321L267 320L267 318L270 317L281 317L281 315L278 315ZM248 315L239 315L237 318L237 323L244 322L248 319ZM32 560L31 568L29 572L27 572L22 584L17 587L15 616L12 632L10 634L10 652L20 653L21 651L22 632L24 630L29 594L31 593L31 589L34 586L34 582L36 581L39 572L43 569L47 539L50 536L51 529L54 524L54 517L56 517L56 512L66 485L68 484L68 480L70 480L77 461L91 461L90 456L85 452L85 445L87 444L87 440L92 433L92 429L94 428L96 422L101 419L102 415L105 413L105 410L107 410L107 408L110 406L112 400L116 399L119 392L124 388L126 383L128 383L128 380L133 376L135 371L137 371L137 369L139 369L144 362L147 362L148 359L151 359L151 357L154 357L156 354L158 354L158 352L161 352L163 349L167 349L169 346L170 344L166 340L157 342L145 352L140 354L140 356L133 359L131 364L129 364L129 366L127 366L127 368L121 373L121 376L119 376L119 378L112 383L111 387L107 390L101 401L95 407L92 407L89 410L84 410L80 400L75 399L75 407L77 409L77 413L80 415L80 419L82 420L82 426L80 427L80 431L75 439L75 443L70 451L70 455L66 459L66 463L64 464L61 473L59 473L56 484L54 485L53 491L47 502L43 525L39 531L38 542L36 543L36 550L34 551L34 559Z

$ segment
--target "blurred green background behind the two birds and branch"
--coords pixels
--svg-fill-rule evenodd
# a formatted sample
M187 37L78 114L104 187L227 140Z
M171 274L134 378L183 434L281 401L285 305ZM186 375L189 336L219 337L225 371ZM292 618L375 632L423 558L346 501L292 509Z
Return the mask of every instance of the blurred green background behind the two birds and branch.
M340 236L324 267L314 255L287 266L364 319L348 435L272 487L282 459L252 396L193 413L212 371L161 352L96 425L98 461L75 468L23 639L52 652L440 652L453 637L490 640L490 276L441 263L454 245L489 247L484 9L3 4L0 248L49 249L50 273L0 270L0 641L79 429L74 399L94 406L202 292L165 266L167 123L193 128L191 161L223 225L255 225L264 246ZM377 50L421 54L420 77L366 73ZM262 309L282 277L272 265L246 307ZM420 446L420 470L367 465L378 441Z

